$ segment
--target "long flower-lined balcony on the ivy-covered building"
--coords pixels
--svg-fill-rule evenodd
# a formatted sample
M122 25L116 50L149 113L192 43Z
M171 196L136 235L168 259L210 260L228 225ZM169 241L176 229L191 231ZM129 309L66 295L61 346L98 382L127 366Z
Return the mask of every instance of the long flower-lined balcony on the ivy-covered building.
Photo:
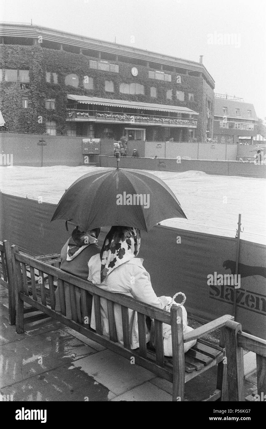
M191 116L191 115L186 115ZM157 125L160 127L187 127L196 128L197 119L182 118L180 116L150 115L145 113L121 113L121 112L93 112L80 109L67 109L66 121L97 122L104 124L135 124Z

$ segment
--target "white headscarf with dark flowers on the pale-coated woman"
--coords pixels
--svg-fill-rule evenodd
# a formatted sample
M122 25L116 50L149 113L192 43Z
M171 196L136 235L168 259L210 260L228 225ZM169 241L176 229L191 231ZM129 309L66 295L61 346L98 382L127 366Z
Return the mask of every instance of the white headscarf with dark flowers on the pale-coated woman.
M137 256L140 230L132 227L112 227L100 251L100 282L115 268Z

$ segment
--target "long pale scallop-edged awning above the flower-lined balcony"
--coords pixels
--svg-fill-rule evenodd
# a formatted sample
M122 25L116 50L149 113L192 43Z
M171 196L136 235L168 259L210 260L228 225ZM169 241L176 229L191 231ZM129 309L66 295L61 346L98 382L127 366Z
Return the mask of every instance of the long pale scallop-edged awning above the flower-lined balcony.
M96 104L100 106L130 107L131 109L160 110L161 112L177 112L198 115L198 112L181 106L170 106L167 104L141 103L139 101L112 100L108 98L87 97L85 95L68 94L68 100L78 103Z

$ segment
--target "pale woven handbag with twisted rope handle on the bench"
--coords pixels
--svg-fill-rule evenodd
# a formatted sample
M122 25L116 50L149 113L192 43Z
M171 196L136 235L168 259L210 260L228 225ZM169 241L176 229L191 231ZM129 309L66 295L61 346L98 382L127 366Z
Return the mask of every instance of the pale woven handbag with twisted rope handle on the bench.
M183 296L183 301L179 304L174 301L174 299L178 296ZM177 307L181 307L182 309L182 320L183 320L183 334L187 334L188 332L193 331L193 328L188 326L187 324L187 312L184 307L184 303L186 302L186 295L183 292L177 292L173 298L170 296L164 296L164 299L168 299L169 303L165 306L164 310L169 311L172 305L177 305ZM191 347L196 344L197 340L192 340L184 343L184 352L186 353ZM154 338L154 319L151 319L151 336L150 336L150 345L156 348L156 341ZM171 335L171 325L167 323L163 323L163 349L165 356L173 356L172 350L172 335Z

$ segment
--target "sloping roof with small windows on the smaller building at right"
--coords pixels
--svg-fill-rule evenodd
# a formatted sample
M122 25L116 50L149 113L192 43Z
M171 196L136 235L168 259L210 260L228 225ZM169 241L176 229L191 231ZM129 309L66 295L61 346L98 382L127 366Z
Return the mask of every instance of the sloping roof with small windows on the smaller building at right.
M227 107L228 118L237 118L237 119L249 119L257 121L257 115L254 109L253 104L244 103L242 101L234 101L234 100L224 100L222 98L214 99L214 116L225 116L223 107ZM236 109L240 110L240 115L236 116ZM251 117L248 116L248 110L251 110Z

